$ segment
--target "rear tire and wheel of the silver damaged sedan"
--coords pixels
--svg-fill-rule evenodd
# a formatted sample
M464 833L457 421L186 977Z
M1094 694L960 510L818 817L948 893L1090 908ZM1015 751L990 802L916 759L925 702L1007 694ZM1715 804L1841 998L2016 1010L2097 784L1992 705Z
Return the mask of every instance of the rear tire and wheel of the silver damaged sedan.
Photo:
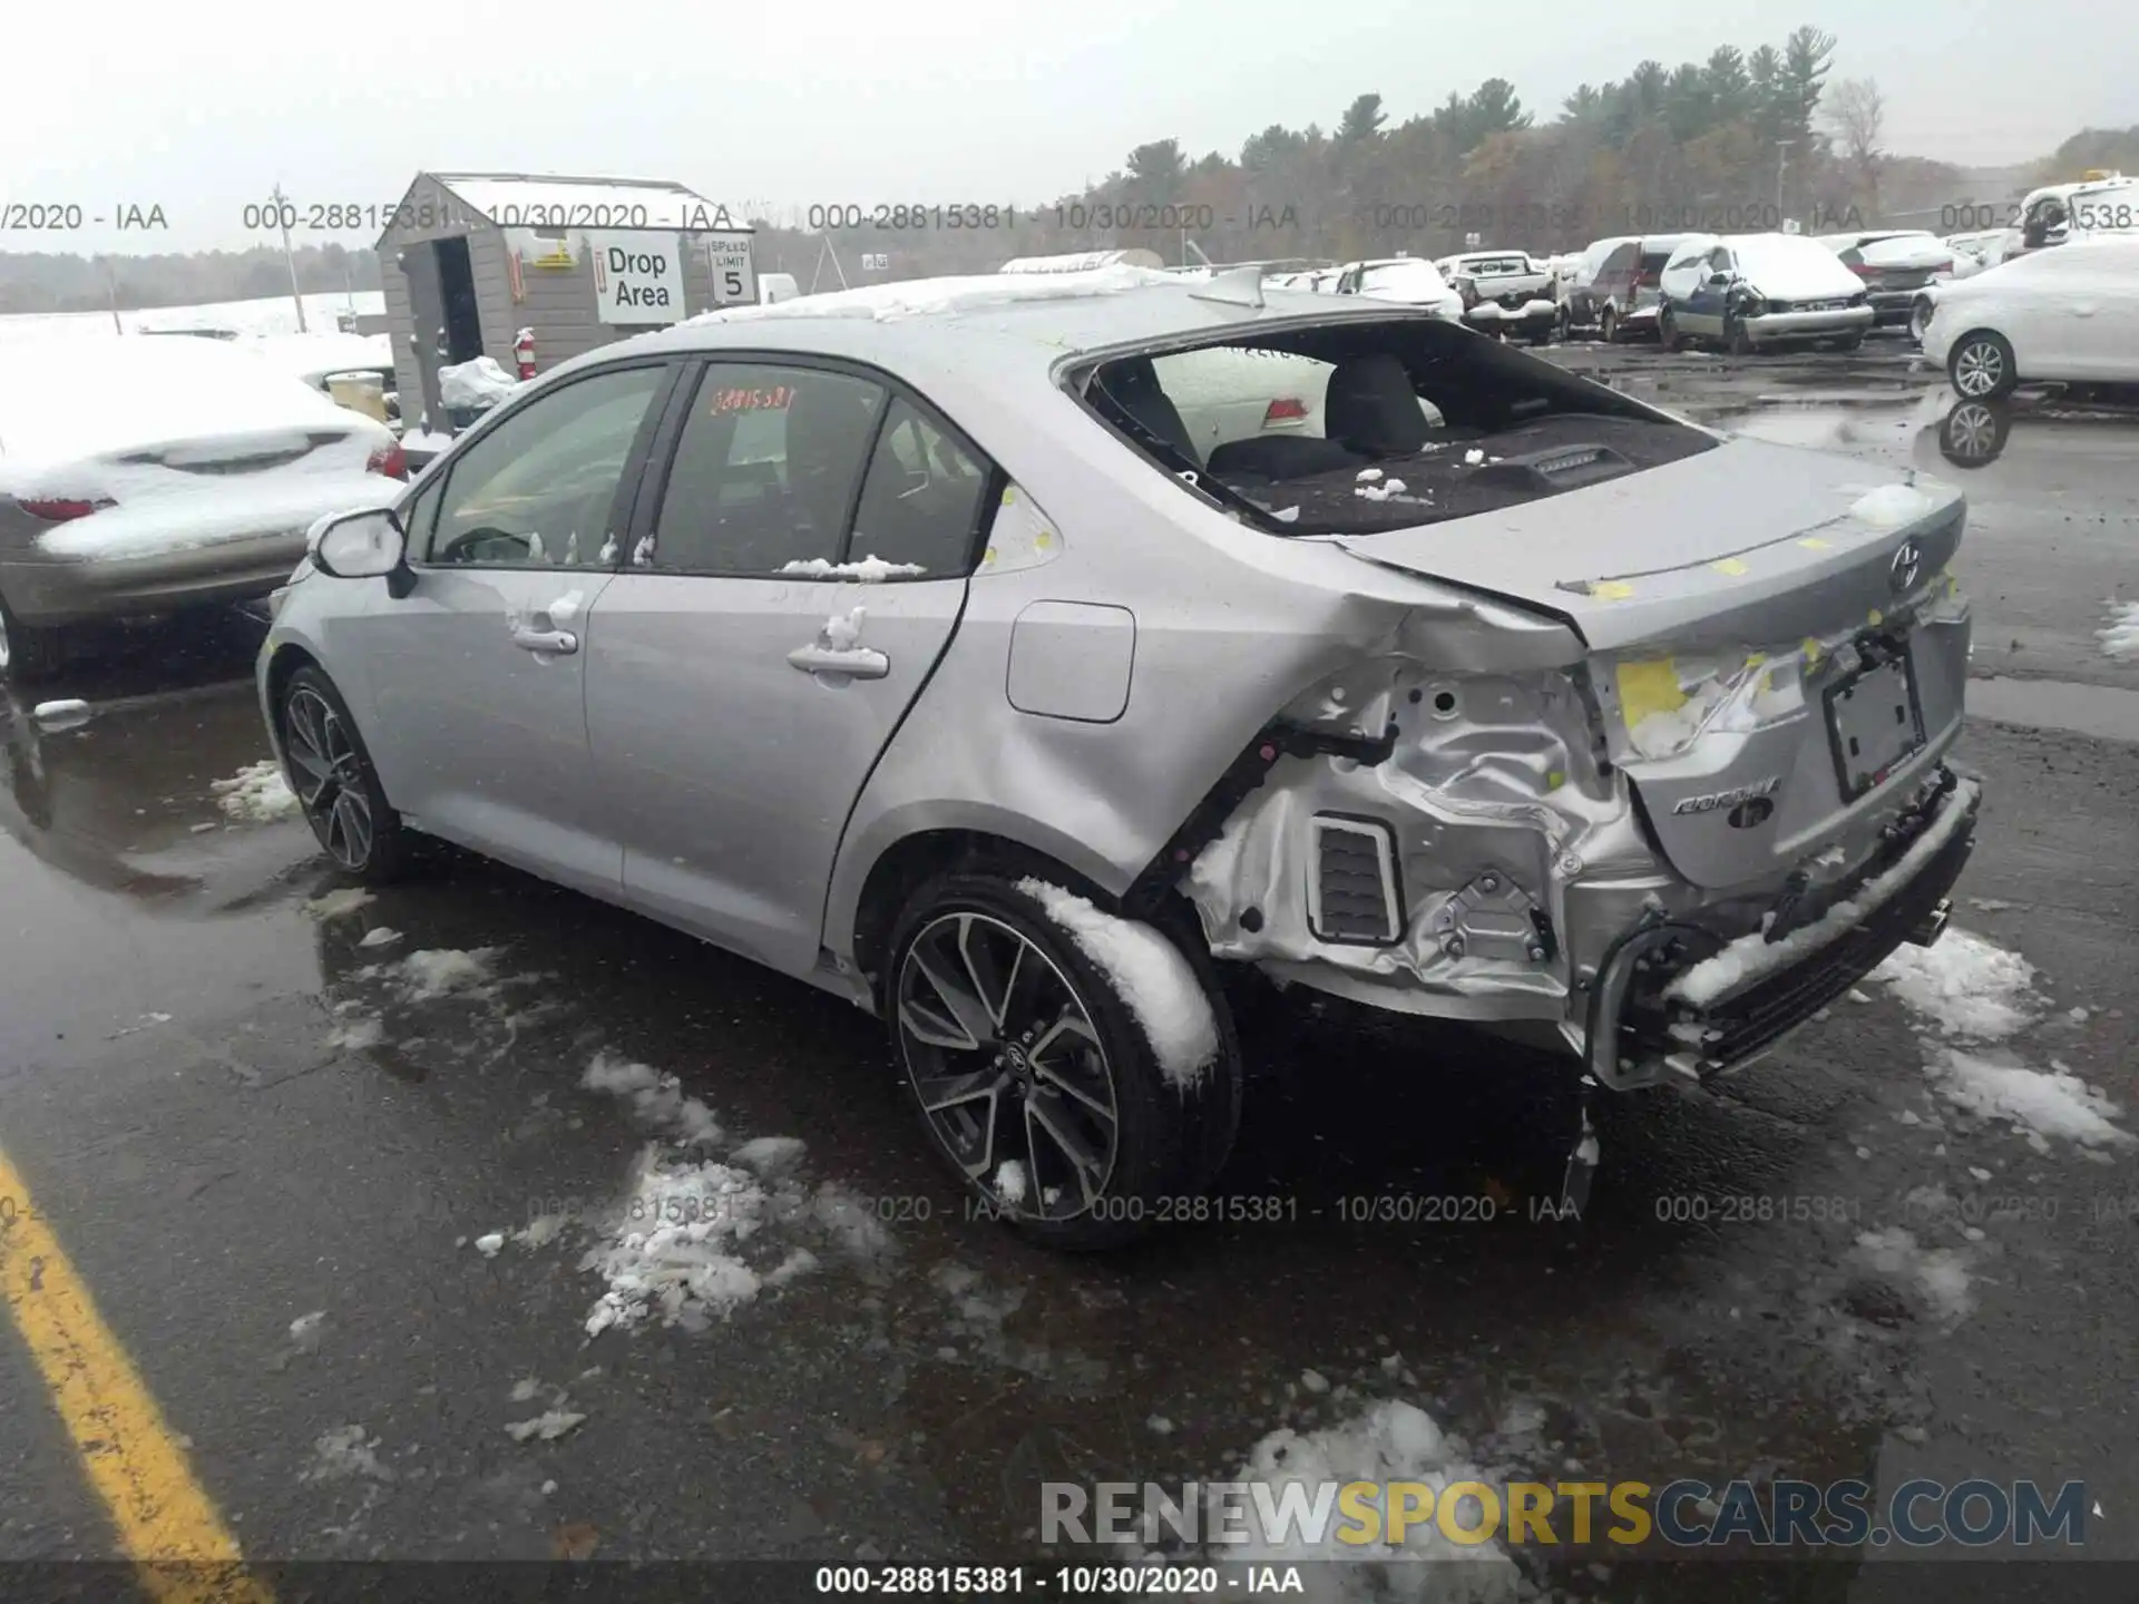
M1194 1219L1181 1200L1232 1148L1232 1016L1206 954L1132 924L1185 960L1217 1027L1215 1061L1176 1084L1121 986L1027 883L960 868L913 892L879 982L892 1057L969 1204L1044 1247L1119 1247ZM1003 1185L1007 1159L1022 1185Z

